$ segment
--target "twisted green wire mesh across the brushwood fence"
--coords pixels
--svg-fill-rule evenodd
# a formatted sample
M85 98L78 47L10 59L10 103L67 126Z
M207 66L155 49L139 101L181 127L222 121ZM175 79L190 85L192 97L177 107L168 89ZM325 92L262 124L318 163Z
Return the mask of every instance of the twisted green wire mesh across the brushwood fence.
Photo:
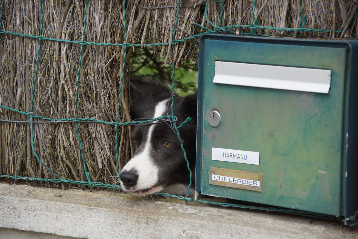
M163 115L160 116L156 119L152 119L152 120L142 120L142 121L131 121L131 122L122 122L119 123L118 122L118 113L119 113L119 108L121 105L121 94L122 94L122 86L123 86L123 80L124 80L124 73L125 73L125 67L126 67L126 54L127 54L127 48L128 47L155 47L155 46L165 46L165 45L169 45L169 42L164 42L164 43L151 43L151 44L132 44L132 43L127 43L126 40L124 43L95 43L95 42L86 42L84 41L84 37L85 37L85 30L86 30L86 21L87 21L87 0L84 1L84 18L83 18L83 31L82 31L82 39L81 41L73 41L73 40L63 40L63 39L55 39L55 38L48 38L48 37L43 37L42 36L42 29L43 29L43 8L44 8L44 0L42 0L42 4L41 4L41 18L40 18L40 31L39 31L39 35L35 36L35 35L28 35L28 34L20 34L20 33L15 33L15 32L8 32L5 30L2 30L2 16L3 16L3 5L4 5L4 1L2 1L1 3L1 13L0 13L0 34L10 34L10 35L15 35L15 36L21 36L21 37L28 37L28 38L35 38L38 39L38 51L37 51L37 58L36 58L36 65L35 65L35 75L34 75L34 79L33 79L33 86L32 86L32 96L31 96L31 107L30 107L30 112L24 112L24 111L19 111L16 109L13 109L11 107L5 106L5 105L0 105L1 108L6 109L6 110L10 110L22 115L26 115L30 118L29 122L26 121L16 121L16 122L26 122L26 123L30 123L30 134L31 134L31 147L32 147L32 153L34 154L34 156L37 158L38 162L43 164L43 166L49 170L55 177L56 179L49 179L49 178L35 178L35 177L21 177L21 176L13 176L13 175L0 175L0 178L11 178L11 179L21 179L21 180L34 180L34 181L40 181L40 182L52 182L52 183L69 183L69 184L74 184L74 185L84 185L84 186L95 186L95 187L102 187L102 188L112 188L112 189L121 189L120 186L118 185L112 185L112 184L107 184L107 183L101 183L101 182L92 182L91 178L89 176L89 172L87 172L86 169L86 163L84 160L84 154L83 154L83 148L82 148L82 143L81 143L81 137L79 135L79 130L77 127L77 123L78 122L96 122L96 123L102 123L102 124L108 124L108 125L113 125L115 126L115 142L116 142L116 168L117 168L117 178L119 180L119 163L118 163L118 126L124 126L124 125L128 125L128 124L141 124L141 123L150 123L153 122L155 120L158 119L169 119L171 121L173 121L173 130L175 130L175 132L178 135L178 138L180 140L180 135L179 135L179 130L178 128L180 128L183 124L187 123L190 118L188 118L187 120L185 120L182 124L180 124L179 126L176 125L176 120L175 120L175 116L174 116L174 112L173 112L173 105L174 105L174 86L176 83L176 79L174 76L175 73L175 57L174 57L174 46L175 44L178 44L180 42L184 42L186 40L189 39L193 39L193 38L199 38L201 35L203 34L210 34L210 33L219 33L219 32L228 32L228 33L233 33L236 34L236 32L234 32L233 30L231 30L232 28L243 28L243 29L250 29L251 32L249 33L243 33L240 32L240 34L242 35L262 35L262 36L267 36L267 35L263 35L263 34L257 34L256 33L256 29L270 29L270 30L283 30L283 31L296 31L296 32L331 32L331 30L326 30L326 29L314 29L314 28L304 28L304 24L305 24L305 17L301 15L301 0L299 0L299 28L277 28L277 27L265 27L265 26L260 26L257 25L255 22L255 15L254 15L254 11L256 8L256 0L253 1L253 10L252 10L252 19L251 19L251 24L250 25L228 25L228 26L224 26L222 27L222 15L223 15L223 4L225 3L226 0L222 0L222 1L218 1L218 0L212 0L215 1L216 3L221 4L221 14L220 14L220 21L218 23L218 25L213 24L211 21L209 21L208 19L208 12L207 12L207 8L208 8L208 2L209 0L206 1L206 5L205 5L205 18L207 20L207 22L213 27L214 30L208 29L198 23L193 23L194 25L199 26L200 28L204 29L205 32L197 34L197 35L192 35L188 38L183 38L183 39L175 39L175 33L176 33L176 29L177 29L177 23L178 23L178 18L179 18L179 10L180 10L180 0L177 1L176 5L178 6L176 9L176 19L175 19L175 23L174 23L174 30L173 30L173 39L171 41L171 48L172 48L172 57L173 57L173 61L172 61L172 74L171 74L171 80L172 80L172 86L171 86L171 91L172 91L172 96L171 96L171 114L170 115ZM358 5L358 1L357 1L357 5ZM126 1L123 1L123 18L124 18L124 39L127 39L127 29L126 29ZM357 9L355 9L355 15L357 15ZM355 17L354 17L355 18ZM353 19L354 19L353 18ZM336 33L340 33L342 31L339 30L335 30ZM74 106L74 118L71 119L52 119L52 118L46 118L43 116L39 116L34 114L33 111L33 100L34 100L34 94L35 94L35 89L36 89L36 80L37 80L37 72L38 72L38 64L39 64L39 59L40 59L40 47L41 47L41 42L43 40L48 40L48 41L56 41L56 42L64 42L64 43L73 43L73 44L80 44L81 45L81 49L80 49L80 56L79 56L79 63L78 63L78 71L77 71L77 79L76 79L76 94L75 94L75 106ZM80 76L80 70L81 70L81 61L82 61L82 55L83 55L83 46L84 45L96 45L96 46L120 46L120 47L124 47L124 64L122 65L122 75L121 75L121 81L120 81L120 91L118 94L118 105L117 105L117 114L116 114L116 121L115 122L108 122L108 121L103 121L103 120L98 120L98 119L94 119L94 118L78 118L77 117L77 100L78 100L78 86L79 86L79 76ZM64 178L60 178L55 172L52 171L51 168L47 167L47 165L42 162L39 158L39 156L36 154L35 149L34 149L34 138L33 138L33 124L37 123L34 122L34 119L42 119L42 120L47 120L47 121L42 121L41 123L69 123L72 122L75 124L75 128L76 128L76 133L77 133L77 138L78 138L78 142L79 142L79 148L81 151L81 157L82 157L82 163L83 163L83 168L84 168L84 172L87 178L87 181L73 181L73 180L66 180ZM180 140L182 141L182 140ZM185 154L185 150L183 148L183 143L181 143L183 152L184 152L184 157L185 160L187 161L187 165L188 165L188 170L190 171L189 168L189 162L188 159L186 158L186 154ZM257 206L246 206L246 205L238 205L238 204L231 204L231 203L226 203L226 202L215 202L215 201L208 201L208 200L194 200L193 198L189 198L189 187L190 185L192 185L192 181L191 181L191 175L192 172L190 171L190 184L188 186L188 193L186 196L177 196L177 195L168 195L168 194L164 194L164 193L157 193L158 195L161 196L165 196L165 197L175 197L179 200L185 200L185 202L189 202L189 201L197 201L197 202L202 202L205 204L212 204L212 205L219 205L219 206L224 206L224 207L239 207L242 209L258 209L258 210L266 210L266 211L277 211L277 212L285 212L285 213L290 213L290 214L297 214L297 215L309 215L309 216L314 216L314 217L318 217L318 218L329 218L329 219L335 219L334 216L328 216L328 215L323 215L323 214L318 214L318 213L314 213L314 212L306 212L306 211L301 211L301 210L293 210L293 209L281 209L281 208L277 208L277 207L257 207ZM347 219L344 219L343 221L347 224L349 224L349 222L354 221L355 218L357 216L357 213L354 216L351 216ZM355 226L358 223L350 223L350 225Z

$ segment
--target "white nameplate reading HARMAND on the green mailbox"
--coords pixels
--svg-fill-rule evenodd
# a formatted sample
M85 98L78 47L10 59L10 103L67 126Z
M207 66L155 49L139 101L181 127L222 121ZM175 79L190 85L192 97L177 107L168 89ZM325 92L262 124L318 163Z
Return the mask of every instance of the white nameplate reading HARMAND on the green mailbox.
M260 153L245 150L211 148L211 159L233 163L260 165Z

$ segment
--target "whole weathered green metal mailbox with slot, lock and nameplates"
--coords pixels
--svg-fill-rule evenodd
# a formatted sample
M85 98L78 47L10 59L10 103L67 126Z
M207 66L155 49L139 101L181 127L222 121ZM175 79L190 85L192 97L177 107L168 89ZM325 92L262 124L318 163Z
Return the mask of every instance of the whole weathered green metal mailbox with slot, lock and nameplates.
M199 41L196 198L358 210L358 42Z

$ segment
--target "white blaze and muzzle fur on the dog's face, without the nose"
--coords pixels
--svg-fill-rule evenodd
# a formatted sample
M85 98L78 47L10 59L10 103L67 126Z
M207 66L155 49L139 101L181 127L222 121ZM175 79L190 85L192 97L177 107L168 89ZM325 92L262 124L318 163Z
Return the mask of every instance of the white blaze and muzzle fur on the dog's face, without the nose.
M163 100L155 106L153 119L166 113L167 103L168 100ZM154 124L149 126L146 138L139 146L141 150L139 150L139 152L136 153L122 169L122 172L135 171L138 175L137 183L133 187L124 186L121 181L121 186L126 192L131 192L139 196L145 196L163 190L163 187L156 185L158 182L159 169L151 157L151 155L153 155L153 150L155 150L151 145L151 139L153 137L153 130L155 126L156 125Z

